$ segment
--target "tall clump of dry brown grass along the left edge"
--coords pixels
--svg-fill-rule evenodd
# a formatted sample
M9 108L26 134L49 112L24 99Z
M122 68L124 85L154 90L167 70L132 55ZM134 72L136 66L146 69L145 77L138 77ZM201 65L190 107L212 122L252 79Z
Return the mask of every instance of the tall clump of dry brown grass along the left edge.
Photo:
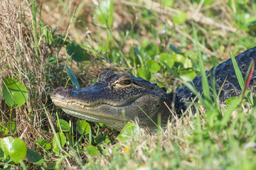
M28 1L0 2L0 86L3 79L11 77L26 85L29 99L21 107L13 108L6 105L1 98L1 123L11 121L17 123L17 134L28 148L35 147L38 137L51 140L50 134L43 133L49 125L43 114L43 106L47 106L49 84L46 84L46 46L39 45L40 52L33 49L33 32L31 31L31 11ZM2 96L1 96L2 97ZM41 103L41 104L39 104Z

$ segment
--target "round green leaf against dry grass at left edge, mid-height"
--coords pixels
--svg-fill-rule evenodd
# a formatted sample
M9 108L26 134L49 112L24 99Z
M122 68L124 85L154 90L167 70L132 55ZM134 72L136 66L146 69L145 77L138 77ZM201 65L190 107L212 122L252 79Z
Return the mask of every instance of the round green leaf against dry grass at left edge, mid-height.
M22 106L28 100L28 90L26 86L16 79L4 79L2 87L4 101L9 106Z

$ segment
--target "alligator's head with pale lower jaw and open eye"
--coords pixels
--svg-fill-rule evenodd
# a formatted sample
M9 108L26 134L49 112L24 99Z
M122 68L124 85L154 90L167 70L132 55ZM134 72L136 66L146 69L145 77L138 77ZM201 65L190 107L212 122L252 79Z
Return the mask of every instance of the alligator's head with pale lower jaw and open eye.
M136 118L139 118L139 125L155 129L159 115L162 124L171 116L164 102L170 104L172 96L164 89L142 78L114 74L110 70L102 71L95 84L81 89L60 87L50 98L65 113L104 123L119 131L127 121Z

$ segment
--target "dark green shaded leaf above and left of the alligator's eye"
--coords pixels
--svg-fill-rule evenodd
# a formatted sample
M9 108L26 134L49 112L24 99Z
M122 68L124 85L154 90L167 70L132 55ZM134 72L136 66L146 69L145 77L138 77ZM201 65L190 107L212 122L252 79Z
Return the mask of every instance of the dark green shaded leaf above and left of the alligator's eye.
M72 59L75 60L76 62L90 60L85 50L83 50L82 47L78 45L77 42L70 43L69 45L67 45L66 49L67 49L68 55L72 56Z

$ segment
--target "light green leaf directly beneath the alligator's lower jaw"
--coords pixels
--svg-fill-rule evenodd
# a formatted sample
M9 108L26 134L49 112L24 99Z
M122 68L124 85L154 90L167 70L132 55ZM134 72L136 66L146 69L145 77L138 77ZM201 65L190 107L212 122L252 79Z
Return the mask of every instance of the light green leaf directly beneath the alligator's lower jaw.
M119 142L130 140L132 135L136 134L138 131L137 126L134 123L127 123L124 126L120 134L117 136Z

